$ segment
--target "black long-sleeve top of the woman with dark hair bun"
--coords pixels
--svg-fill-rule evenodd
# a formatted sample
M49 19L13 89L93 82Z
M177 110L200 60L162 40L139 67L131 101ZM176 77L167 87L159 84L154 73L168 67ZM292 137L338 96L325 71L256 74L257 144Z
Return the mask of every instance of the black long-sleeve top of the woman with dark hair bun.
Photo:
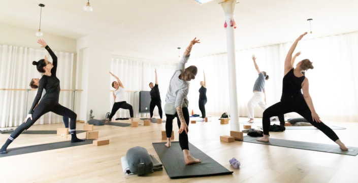
M59 79L56 77L57 71L57 56L53 53L49 46L46 46L45 49L49 52L52 57L52 69L51 69L51 76L43 75L39 81L39 89L37 90L37 94L35 97L34 102L30 108L28 114L32 114L36 105L39 103L42 95L42 91L45 89L46 94L42 98L41 102L51 101L51 103L57 103L59 99L60 93L60 82Z

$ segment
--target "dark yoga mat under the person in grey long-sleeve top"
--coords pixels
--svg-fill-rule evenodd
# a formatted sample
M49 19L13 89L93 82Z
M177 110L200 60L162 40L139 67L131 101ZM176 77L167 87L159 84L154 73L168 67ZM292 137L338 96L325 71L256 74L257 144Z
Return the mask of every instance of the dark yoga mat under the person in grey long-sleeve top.
M167 148L164 144L166 144L166 142L153 143L153 147L170 178L176 179L227 175L233 173L200 151L191 143L189 143L190 154L193 157L200 159L202 163L185 165L183 152L180 148L179 142L172 142L172 146L170 148Z

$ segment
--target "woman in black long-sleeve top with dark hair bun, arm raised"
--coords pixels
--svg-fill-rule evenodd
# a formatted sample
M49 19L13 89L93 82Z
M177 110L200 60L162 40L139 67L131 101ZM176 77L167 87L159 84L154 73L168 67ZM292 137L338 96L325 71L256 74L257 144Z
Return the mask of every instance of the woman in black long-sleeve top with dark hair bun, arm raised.
M53 63L45 59L41 59L38 62L33 61L32 64L37 66L37 70L43 73L42 78L39 81L39 89L36 94L34 103L30 108L30 111L25 119L24 123L22 123L19 127L17 127L14 132L11 133L8 140L5 142L3 147L0 149L0 154L6 154L6 149L8 145L17 138L24 130L30 128L40 117L48 112L53 112L60 116L68 116L70 121L70 131L71 131L71 142L80 142L84 141L76 136L76 119L77 115L70 109L60 105L58 103L59 93L60 93L60 81L56 77L57 70L57 57L50 49L50 47L46 44L44 40L39 40L39 44L41 44L41 48L45 48L52 57ZM42 91L46 90L46 94L42 98L39 103L42 95Z

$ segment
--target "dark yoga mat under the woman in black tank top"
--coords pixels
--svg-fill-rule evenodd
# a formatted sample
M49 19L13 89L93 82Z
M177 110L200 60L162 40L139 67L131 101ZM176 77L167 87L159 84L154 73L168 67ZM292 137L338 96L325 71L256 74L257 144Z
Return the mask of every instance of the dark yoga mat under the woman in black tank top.
M350 156L356 156L358 154L358 148L355 147L347 147L348 151L343 151L339 148L338 145L302 142L302 141L294 141L294 140L282 140L282 139L275 139L275 138L270 138L270 142L260 142L256 140L257 138L261 138L261 137L251 137L246 135L244 136L244 142L261 143L261 144L275 145L285 148L295 148L301 150L319 151L319 152L335 153L335 154L350 155Z

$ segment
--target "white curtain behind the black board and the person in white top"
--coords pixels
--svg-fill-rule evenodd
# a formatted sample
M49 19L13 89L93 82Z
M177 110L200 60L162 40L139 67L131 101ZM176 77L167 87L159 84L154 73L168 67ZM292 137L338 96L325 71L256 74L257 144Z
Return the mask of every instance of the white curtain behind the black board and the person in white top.
M169 81L175 71L175 66L150 63L136 60L127 60L120 58L112 58L111 72L119 78L123 83L126 92L126 102L133 106L134 117L147 117L149 113L139 114L139 91L150 91L149 83L155 84L155 70L158 75L158 87L160 91L161 106L164 113L165 97L167 94ZM109 91L114 90L112 82L116 81L111 75L109 79ZM136 91L136 92L135 92ZM112 111L114 103L113 91L109 92L110 106L109 111ZM155 107L154 116L158 115L158 109ZM116 118L129 118L129 111L119 109L113 119Z

